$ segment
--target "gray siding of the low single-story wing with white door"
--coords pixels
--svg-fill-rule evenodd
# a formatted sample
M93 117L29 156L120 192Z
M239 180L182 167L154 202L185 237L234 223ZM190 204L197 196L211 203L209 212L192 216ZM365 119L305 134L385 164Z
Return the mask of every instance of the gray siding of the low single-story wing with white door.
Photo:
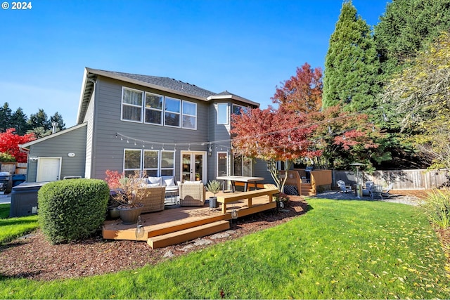
M63 131L61 131L63 133ZM75 153L69 157L68 153ZM60 178L65 176L84 177L84 159L86 157L86 126L49 136L40 143L30 146L30 157L61 157ZM36 182L37 161L30 160L27 166L27 182Z

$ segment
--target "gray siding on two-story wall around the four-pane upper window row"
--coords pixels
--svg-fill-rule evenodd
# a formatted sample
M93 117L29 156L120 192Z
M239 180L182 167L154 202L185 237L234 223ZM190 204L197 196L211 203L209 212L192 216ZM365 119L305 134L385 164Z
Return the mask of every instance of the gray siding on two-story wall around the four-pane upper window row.
M140 91L158 93L197 104L197 129L182 129L137 122L121 121L122 86ZM209 103L178 96L172 93L156 91L144 86L124 83L107 77L98 77L96 83L96 114L94 115L92 178L105 178L105 171L123 170L124 149L162 150L160 143L167 143L165 150L174 150L173 144L198 143L208 139ZM116 133L129 136L128 143L116 138ZM137 141L136 141L137 140ZM136 141L136 145L134 142ZM142 143L142 141L145 141ZM151 142L155 142L152 144ZM144 144L144 145L143 145ZM175 152L175 176L180 178L180 150L188 150L188 145L177 145ZM204 145L191 145L192 151L206 151Z

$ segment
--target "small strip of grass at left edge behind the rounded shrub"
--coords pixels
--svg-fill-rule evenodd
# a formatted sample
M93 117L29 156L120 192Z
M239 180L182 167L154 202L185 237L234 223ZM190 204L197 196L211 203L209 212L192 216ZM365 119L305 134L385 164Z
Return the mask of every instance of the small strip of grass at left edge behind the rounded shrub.
M38 227L37 215L9 218L11 204L0 204L0 244L11 242Z

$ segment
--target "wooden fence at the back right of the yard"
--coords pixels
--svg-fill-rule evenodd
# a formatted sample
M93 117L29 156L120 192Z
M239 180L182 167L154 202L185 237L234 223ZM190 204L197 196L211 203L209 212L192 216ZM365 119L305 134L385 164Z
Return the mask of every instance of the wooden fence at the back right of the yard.
M387 186L394 183L394 190L428 190L430 188L439 188L446 182L447 170L391 170L374 171L369 174L365 171L359 171L358 183L364 185L368 180L378 185ZM337 186L338 180L345 181L346 184L356 184L356 171L336 171L333 170L333 187Z

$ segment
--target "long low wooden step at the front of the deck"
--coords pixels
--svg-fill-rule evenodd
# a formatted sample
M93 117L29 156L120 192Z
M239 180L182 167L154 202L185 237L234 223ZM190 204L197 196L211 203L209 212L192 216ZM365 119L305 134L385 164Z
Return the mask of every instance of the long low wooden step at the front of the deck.
M193 228L179 230L174 233L150 237L147 240L147 244L149 244L153 249L162 248L172 244L179 244L181 242L187 242L188 240L194 240L197 237L204 237L205 235L210 235L212 233L219 233L220 231L227 230L229 228L229 221L217 221L201 226L195 226Z

